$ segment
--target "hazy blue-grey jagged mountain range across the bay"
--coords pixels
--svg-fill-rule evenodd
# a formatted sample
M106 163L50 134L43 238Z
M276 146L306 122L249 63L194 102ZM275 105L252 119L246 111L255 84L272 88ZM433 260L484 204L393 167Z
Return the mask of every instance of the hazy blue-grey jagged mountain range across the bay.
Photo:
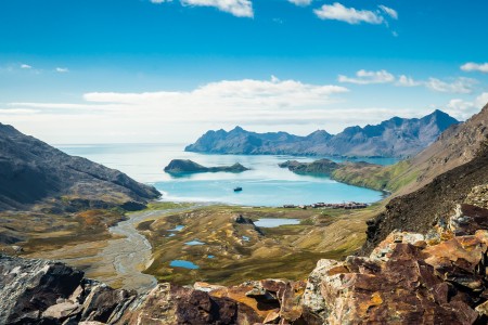
M240 127L208 131L187 152L245 155L411 157L459 121L441 110L422 118L394 117L376 126L349 127L332 135L318 130L307 136L286 132L256 133Z

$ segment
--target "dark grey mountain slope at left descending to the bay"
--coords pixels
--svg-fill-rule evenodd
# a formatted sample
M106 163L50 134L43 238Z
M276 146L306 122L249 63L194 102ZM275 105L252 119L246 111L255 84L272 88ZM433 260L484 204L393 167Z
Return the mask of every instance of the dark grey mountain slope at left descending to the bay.
M156 188L0 123L0 211L48 199L124 205L156 198Z

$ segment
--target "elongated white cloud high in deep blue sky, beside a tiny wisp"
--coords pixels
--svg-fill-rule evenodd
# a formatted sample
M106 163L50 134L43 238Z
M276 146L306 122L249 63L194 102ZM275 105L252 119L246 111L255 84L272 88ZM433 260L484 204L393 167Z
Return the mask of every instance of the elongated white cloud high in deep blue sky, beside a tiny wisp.
M341 21L349 24L368 23L378 25L384 22L383 16L378 13L346 8L338 2L334 2L334 4L323 4L320 9L313 10L313 12L321 20Z

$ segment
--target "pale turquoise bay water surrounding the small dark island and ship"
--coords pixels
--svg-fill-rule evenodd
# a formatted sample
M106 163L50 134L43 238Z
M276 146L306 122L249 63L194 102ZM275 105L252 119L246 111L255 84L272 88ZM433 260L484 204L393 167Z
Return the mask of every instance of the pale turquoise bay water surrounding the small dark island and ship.
M140 182L153 184L163 193L164 200L281 206L318 202L373 203L383 195L377 191L338 183L326 177L298 176L278 167L279 162L287 159L313 161L318 157L207 155L185 153L184 144L64 144L57 147L67 154L118 169ZM241 162L252 170L175 178L163 171L171 159L191 159L207 167ZM395 159L385 158L362 160L382 165L396 162ZM235 193L235 186L243 187L243 191Z

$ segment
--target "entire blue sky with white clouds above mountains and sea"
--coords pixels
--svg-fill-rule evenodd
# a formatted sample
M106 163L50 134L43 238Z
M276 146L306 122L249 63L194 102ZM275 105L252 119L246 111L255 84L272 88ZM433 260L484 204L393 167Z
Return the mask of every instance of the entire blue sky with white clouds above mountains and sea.
M158 2L158 3L156 3ZM338 132L488 102L486 0L2 0L0 121L51 143Z

